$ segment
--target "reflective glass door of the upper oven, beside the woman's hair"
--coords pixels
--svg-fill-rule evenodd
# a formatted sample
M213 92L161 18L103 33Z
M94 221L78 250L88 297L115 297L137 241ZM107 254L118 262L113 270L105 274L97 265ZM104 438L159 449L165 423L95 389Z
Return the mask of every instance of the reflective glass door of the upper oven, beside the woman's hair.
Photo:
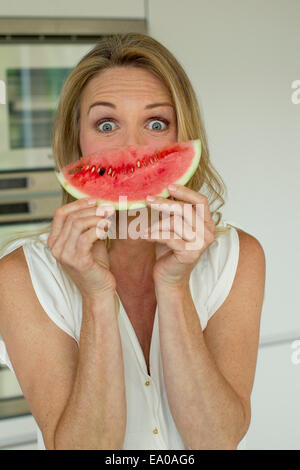
M0 171L54 168L52 126L62 86L93 44L0 44Z

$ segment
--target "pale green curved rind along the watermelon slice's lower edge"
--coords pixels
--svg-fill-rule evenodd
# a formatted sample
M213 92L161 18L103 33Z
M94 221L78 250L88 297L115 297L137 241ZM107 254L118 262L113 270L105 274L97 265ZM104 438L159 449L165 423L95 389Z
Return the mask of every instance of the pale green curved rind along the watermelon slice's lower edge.
M201 158L201 153L202 153L202 145L201 145L201 140L193 140L191 141L191 144L194 146L194 151L195 155L193 157L193 162L191 166L188 168L188 170L177 180L177 181L170 181L170 183L178 184L181 186L184 186L193 176L195 171L198 168L200 158ZM61 184L61 186L69 193L71 196L73 196L75 199L82 199L82 198L89 198L90 196L87 195L86 193L83 193L79 189L76 189L74 186L72 186L69 181L64 177L62 171L57 172L55 171L55 175ZM164 189L161 193L157 194L157 196L163 197L163 198L168 198L171 196L169 191L167 189ZM94 198L93 198L94 199ZM121 201L116 202L116 201L110 201L108 199L99 199L97 198L97 205L113 205L116 210L130 210L130 209L140 209L142 207L147 207L146 201L140 200L140 201Z

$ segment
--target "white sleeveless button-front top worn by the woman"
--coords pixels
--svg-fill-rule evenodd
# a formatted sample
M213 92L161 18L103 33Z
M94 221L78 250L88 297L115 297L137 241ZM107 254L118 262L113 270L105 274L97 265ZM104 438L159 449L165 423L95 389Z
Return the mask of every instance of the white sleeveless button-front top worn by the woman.
M223 222L223 226L229 226L230 231L221 234L205 250L190 277L190 290L202 330L228 296L238 264L239 238L235 227L240 226L229 221ZM81 294L52 256L47 246L48 235L46 233L32 238L21 238L10 244L1 257L23 246L32 284L45 313L79 345ZM123 450L187 450L168 405L160 353L157 308L150 347L151 376L148 375L141 346L121 300L118 322L127 402ZM0 362L14 372L1 336ZM38 426L37 437L38 448L45 449ZM239 450L245 449L245 442L244 437L238 446Z

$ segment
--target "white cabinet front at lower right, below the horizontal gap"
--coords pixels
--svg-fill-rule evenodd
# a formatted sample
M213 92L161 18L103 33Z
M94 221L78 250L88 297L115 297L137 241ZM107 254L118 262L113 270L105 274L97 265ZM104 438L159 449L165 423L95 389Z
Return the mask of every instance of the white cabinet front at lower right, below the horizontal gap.
M259 350L247 449L300 449L300 342L292 344Z

